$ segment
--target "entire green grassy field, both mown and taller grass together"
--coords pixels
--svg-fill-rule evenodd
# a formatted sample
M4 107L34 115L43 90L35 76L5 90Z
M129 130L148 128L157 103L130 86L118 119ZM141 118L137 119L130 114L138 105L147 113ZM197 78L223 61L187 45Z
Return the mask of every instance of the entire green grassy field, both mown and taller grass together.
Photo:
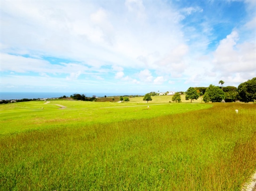
M139 98L0 105L1 190L240 191L249 181L255 104Z

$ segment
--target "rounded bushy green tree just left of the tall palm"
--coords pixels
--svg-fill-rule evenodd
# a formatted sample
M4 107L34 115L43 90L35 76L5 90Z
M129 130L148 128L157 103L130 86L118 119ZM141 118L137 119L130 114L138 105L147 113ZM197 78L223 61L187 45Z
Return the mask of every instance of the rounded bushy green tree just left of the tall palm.
M204 101L221 102L222 99L225 99L225 93L219 87L213 86L212 84L206 89L205 94L207 95L204 96Z

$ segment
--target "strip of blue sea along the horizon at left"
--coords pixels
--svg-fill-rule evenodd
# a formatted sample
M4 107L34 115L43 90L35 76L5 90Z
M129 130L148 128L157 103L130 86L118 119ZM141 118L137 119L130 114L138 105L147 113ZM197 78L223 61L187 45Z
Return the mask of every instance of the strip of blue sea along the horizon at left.
M125 96L125 95L140 95L143 96L145 93L65 93L65 92L0 92L1 100L9 99L37 99L37 98L56 98L61 96L71 96L73 94L84 94L86 97L103 97L103 96Z

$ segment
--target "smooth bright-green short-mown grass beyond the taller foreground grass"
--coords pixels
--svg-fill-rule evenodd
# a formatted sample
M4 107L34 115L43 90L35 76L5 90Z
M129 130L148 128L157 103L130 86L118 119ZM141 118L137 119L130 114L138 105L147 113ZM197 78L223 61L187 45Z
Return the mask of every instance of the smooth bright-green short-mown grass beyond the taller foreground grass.
M25 131L83 127L95 123L152 118L209 108L211 104L113 103L90 101L29 101L0 105L0 136ZM58 105L66 108L60 109ZM136 107L134 107L136 106ZM148 107L150 106L150 107Z

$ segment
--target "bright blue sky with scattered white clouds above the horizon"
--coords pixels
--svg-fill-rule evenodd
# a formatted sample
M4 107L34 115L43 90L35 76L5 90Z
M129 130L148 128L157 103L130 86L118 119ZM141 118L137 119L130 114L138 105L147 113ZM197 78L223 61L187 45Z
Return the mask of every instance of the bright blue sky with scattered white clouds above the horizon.
M256 77L255 0L1 0L0 91L131 93Z

